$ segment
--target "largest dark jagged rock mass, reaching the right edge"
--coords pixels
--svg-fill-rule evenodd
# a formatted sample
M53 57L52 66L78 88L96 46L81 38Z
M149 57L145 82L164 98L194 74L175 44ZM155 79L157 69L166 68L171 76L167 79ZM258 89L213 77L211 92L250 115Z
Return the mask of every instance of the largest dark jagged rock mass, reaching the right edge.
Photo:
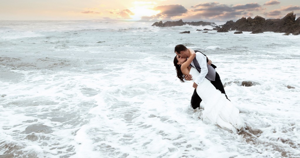
M248 31L254 32L261 29L262 32L287 32L294 33L300 31L300 18L295 20L296 15L294 12L288 13L282 19L267 19L256 16L253 19L248 17L242 17L241 19L233 22L232 20L227 21L222 28L226 30L236 30L236 31Z

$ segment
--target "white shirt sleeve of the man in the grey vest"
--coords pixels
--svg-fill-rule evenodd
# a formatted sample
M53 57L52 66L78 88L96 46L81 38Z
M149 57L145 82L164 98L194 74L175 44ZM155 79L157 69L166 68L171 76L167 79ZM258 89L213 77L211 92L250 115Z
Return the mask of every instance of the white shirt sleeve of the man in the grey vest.
M198 84L200 84L204 80L204 77L208 73L208 69L207 69L207 65L206 65L207 64L206 63L206 56L204 56L200 52L197 52L195 58L199 62L199 65L200 65L200 68L201 68L201 72L200 72L199 76L195 80L195 83L198 85Z

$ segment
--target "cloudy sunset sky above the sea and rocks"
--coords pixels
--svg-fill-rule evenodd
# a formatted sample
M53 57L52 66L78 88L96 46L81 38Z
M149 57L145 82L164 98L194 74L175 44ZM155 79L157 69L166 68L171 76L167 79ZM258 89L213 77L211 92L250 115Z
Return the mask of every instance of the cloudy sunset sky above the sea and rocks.
M300 0L0 0L0 20L228 21L283 18Z

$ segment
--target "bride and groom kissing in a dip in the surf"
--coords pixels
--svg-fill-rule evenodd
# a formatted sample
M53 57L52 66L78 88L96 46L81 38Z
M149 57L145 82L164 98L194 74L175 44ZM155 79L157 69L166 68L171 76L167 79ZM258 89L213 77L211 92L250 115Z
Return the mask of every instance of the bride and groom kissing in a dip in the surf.
M174 52L177 77L181 82L184 82L184 78L194 82L195 90L191 98L193 109L200 107L200 102L203 101L202 118L208 118L211 123L234 133L244 130L244 120L238 108L226 96L220 76L215 70L216 66L200 51L187 49L182 44L176 45Z

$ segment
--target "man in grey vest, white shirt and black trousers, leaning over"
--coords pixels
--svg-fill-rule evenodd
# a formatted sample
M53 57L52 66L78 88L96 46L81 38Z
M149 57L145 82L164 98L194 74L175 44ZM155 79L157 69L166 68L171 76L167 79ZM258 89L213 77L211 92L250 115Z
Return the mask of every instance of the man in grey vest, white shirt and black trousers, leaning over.
M185 47L182 44L177 45L175 47L174 51L175 51L176 55L178 55L180 58L190 57L190 52L188 51L187 47ZM200 84L203 81L204 77L207 78L209 81L211 81L211 84L214 85L214 87L217 90L220 90L221 93L225 94L226 98L228 99L228 97L225 93L223 84L221 82L220 76L217 73L217 71L215 70L215 68L217 68L217 67L213 64L208 65L207 58L203 53L201 53L198 50L195 50L195 52L196 52L196 57L193 59L191 65L194 68L196 68L200 74L196 78L196 80L193 84L193 87L195 88L195 90L194 90L193 96L190 100L190 103L191 103L191 106L193 107L193 109L200 107L200 102L202 101L202 99L198 96L198 94L196 92L196 88L197 88L198 84ZM192 78L192 76L185 77L185 79L187 79L187 80L190 80L191 78Z

